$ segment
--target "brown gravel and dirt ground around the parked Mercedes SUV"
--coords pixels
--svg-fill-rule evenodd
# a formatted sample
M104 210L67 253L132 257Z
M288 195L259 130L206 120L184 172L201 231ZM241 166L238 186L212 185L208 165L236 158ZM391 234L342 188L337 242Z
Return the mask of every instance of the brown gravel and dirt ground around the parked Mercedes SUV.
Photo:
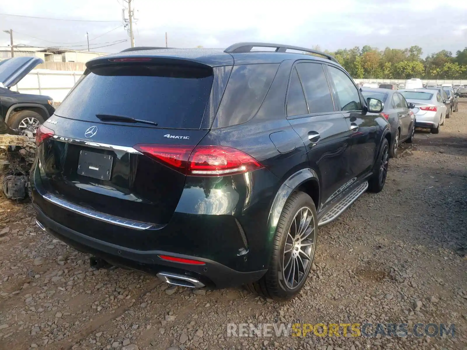
M302 293L191 291L94 271L42 233L28 202L0 205L0 349L466 349L467 101L438 135L417 131L364 194L319 232ZM228 337L227 323L455 323L455 337ZM342 331L341 331L342 334Z

